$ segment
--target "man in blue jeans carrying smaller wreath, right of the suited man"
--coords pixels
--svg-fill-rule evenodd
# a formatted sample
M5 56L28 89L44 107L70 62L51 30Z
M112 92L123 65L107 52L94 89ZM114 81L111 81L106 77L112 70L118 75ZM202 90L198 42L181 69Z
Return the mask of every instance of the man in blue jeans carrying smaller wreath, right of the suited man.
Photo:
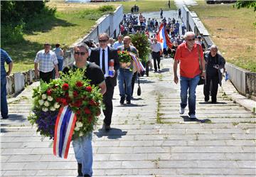
M129 36L124 37L124 45L119 46L117 50L127 50L128 52L134 53L137 55L137 49L130 45L131 38ZM117 80L120 92L120 104L124 104L124 100L127 100L127 104L131 104L132 98L132 74L133 74L133 67L134 61L131 58L131 64L125 67L120 67L118 70ZM124 82L125 82L125 89L124 89Z

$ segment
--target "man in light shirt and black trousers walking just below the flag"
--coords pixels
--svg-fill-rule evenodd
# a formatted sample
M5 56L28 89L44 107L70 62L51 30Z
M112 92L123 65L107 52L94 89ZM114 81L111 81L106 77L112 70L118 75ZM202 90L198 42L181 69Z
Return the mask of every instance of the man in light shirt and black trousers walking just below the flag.
M151 45L151 50L152 50L152 58L154 60L154 71L157 72L157 67L160 70L160 55L163 52L161 48L161 43L157 41L156 38L154 38L154 43ZM157 61L157 66L156 66L156 61Z

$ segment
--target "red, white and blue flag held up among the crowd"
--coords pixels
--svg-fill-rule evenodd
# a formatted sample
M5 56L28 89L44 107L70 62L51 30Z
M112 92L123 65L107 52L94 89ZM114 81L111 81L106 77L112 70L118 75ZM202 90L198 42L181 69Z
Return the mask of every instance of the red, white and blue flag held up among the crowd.
M156 34L156 39L157 39L157 41L159 41L159 43L161 43L162 49L167 48L167 46L169 48L172 47L172 43L171 43L170 38L165 30L164 23L161 23L161 26L159 27L159 32Z

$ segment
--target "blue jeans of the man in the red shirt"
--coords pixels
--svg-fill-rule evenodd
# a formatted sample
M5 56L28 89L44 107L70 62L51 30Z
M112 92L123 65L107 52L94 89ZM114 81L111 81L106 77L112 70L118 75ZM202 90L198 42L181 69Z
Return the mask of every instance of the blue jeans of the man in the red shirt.
M196 114L196 86L200 76L188 78L181 76L181 108L185 108L188 100L188 115Z

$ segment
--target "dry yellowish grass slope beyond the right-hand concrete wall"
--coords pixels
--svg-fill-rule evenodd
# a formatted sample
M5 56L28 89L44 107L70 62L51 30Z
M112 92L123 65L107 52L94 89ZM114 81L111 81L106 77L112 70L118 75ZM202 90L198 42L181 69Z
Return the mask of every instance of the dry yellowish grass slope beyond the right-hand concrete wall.
M255 12L253 9L236 9L233 4L206 4L197 1L191 6L220 48L225 60L252 72L255 62Z

